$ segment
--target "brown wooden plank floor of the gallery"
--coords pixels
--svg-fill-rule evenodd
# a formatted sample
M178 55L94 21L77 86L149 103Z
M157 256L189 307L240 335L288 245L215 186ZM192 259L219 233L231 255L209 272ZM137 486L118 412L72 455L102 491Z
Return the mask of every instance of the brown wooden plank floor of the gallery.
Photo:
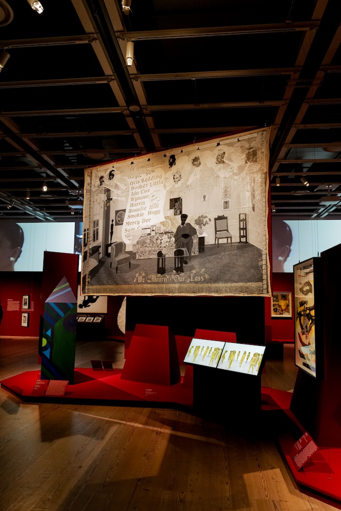
M90 358L122 364L123 344L108 342L78 345L78 364ZM2 338L0 378L36 369L36 346L36 339ZM285 352L284 361L267 363L262 378L290 390L291 346ZM0 390L0 509L335 509L298 491L271 420L254 428L252 419L246 433L179 410L23 404Z

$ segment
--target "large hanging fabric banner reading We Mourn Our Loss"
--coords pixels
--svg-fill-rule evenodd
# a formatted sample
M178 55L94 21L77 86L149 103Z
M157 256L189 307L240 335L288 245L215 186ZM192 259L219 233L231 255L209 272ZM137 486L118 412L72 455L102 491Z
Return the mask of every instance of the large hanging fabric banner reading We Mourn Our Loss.
M85 171L82 294L270 295L269 128Z

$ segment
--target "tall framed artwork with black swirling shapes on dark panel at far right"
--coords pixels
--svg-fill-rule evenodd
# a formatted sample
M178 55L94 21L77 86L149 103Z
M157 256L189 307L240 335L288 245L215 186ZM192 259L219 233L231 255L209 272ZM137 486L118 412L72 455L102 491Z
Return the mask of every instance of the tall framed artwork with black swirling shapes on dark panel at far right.
M324 376L323 267L311 258L293 266L295 365L313 378Z

